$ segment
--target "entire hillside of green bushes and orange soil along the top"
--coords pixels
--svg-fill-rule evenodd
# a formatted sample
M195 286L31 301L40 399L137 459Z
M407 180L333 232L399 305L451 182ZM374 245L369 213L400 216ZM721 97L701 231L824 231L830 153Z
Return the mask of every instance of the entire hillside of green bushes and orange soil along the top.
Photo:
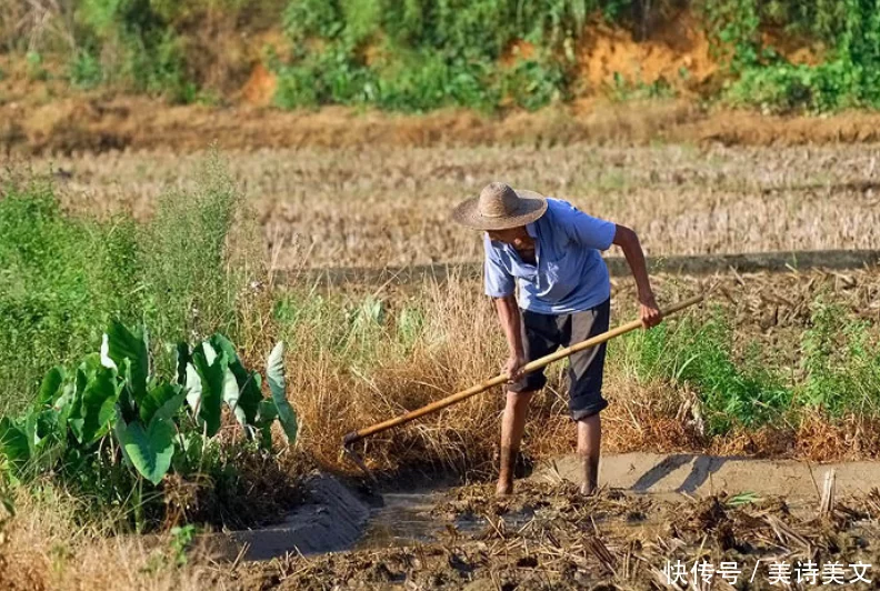
M670 46L683 58L656 71ZM623 50L632 63L619 68ZM0 52L0 79L172 102L256 87L286 109L494 112L680 93L777 112L880 104L869 0L11 0Z

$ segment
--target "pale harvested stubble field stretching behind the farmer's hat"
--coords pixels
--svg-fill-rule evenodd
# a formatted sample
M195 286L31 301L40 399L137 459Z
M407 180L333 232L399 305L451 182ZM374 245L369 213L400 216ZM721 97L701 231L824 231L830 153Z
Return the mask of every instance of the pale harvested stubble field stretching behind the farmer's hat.
M651 256L871 249L880 147L387 148L226 154L280 268L477 261L451 208L502 179L634 228ZM59 158L71 208L150 216L201 154ZM33 162L46 170L44 161Z

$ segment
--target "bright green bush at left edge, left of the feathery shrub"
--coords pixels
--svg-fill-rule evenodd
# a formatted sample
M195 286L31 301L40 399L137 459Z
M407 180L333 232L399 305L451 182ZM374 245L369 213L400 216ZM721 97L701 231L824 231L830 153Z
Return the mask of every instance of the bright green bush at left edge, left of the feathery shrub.
M82 357L111 317L137 320L137 232L64 216L52 186L9 179L0 198L0 411L56 363Z

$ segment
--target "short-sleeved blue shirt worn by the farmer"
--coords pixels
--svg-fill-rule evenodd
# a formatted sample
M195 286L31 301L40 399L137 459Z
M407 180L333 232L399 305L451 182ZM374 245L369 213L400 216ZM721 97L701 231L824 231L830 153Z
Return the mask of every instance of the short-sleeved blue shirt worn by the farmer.
M486 294L503 298L519 284L519 307L541 314L580 312L611 296L608 267L600 250L614 240L613 222L588 216L568 201L547 199L547 212L526 231L534 238L537 266L524 262L511 244L483 237Z

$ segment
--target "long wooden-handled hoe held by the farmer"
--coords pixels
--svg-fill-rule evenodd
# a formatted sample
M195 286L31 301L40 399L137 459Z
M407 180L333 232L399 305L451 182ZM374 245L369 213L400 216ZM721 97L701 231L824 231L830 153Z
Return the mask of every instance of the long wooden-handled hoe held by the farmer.
M673 305L670 305L668 309L663 310L663 315L670 317L677 312L680 312L681 310L684 310L686 308L702 302L704 298L706 298L704 294L700 294L689 300L684 300L682 302L678 302ZM572 353L603 343L606 341L613 339L614 337L620 337L621 334L641 328L641 325L642 325L641 320L633 320L632 322L628 322L627 324L622 324L616 329L611 329L608 332L603 332L602 334L597 334L596 337L587 339L586 341L579 342L577 344L572 344L571 347L567 347L564 349L560 349L559 351L550 353L549 355L542 357L540 359L536 359L534 361L527 363L526 365L522 367L522 373L523 374L530 373L534 370L541 369L546 365L549 365L553 361L559 361L560 359L567 358ZM370 435L381 433L382 431L387 431L394 427L406 424L410 421L414 421L416 419L420 419L422 417L431 414L432 412L437 412L441 409L461 402L462 400L466 400L472 395L479 394L481 392L486 392L490 388L494 388L496 385L501 385L506 383L509 379L510 377L507 373L502 373L500 375L496 375L491 380L487 380L482 383L478 383L477 385L468 388L467 390L462 390L461 392L451 394L442 400L431 402L430 404L407 412L406 414L401 414L400 417L396 417L393 419L389 419L387 421L382 421L380 423L370 427L364 427L363 429L359 429L357 431L352 431L342 439L342 450L344 451L346 455L348 455L348 458L352 462L354 462L358 465L358 468L360 468L363 471L364 474L367 474L373 482L376 482L376 477L372 475L372 473L367 468L367 464L363 463L363 459L352 449L352 445L354 443Z

